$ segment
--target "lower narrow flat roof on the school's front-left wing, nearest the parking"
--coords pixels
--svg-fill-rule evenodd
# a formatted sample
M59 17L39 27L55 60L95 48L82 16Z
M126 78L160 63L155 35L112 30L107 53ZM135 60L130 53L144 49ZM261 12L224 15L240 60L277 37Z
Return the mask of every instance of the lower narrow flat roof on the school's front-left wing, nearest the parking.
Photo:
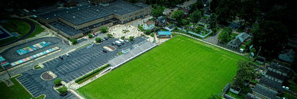
M55 22L51 22L49 23L51 26L55 27L56 29L58 29L59 31L64 32L65 34L69 35L69 36L74 36L80 33L83 33L80 30L76 30L70 26L68 26L67 24L64 24L63 22L60 21L55 21Z

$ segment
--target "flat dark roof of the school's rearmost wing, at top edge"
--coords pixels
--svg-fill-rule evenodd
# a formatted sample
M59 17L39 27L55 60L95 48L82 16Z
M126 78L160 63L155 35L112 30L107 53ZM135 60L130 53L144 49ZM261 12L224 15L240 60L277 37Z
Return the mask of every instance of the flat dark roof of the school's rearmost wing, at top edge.
M132 3L123 0L109 2L109 6L100 6L100 8L118 15L125 15L143 9L142 7L133 5Z

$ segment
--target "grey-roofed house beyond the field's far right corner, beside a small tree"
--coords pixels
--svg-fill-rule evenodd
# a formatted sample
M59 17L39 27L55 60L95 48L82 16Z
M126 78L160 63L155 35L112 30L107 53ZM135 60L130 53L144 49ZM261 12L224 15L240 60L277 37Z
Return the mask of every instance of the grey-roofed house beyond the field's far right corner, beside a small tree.
M228 43L228 46L234 49L238 49L240 45L249 38L250 36L246 32L240 33L238 36L235 37L235 39L231 40Z

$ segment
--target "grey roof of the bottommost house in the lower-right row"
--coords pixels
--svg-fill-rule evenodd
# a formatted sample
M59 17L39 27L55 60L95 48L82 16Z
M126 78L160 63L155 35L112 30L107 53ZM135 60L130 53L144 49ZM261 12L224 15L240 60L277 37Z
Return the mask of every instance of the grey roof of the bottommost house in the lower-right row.
M259 84L256 84L256 86L253 88L252 91L255 92L255 93L258 93L260 95L263 95L263 96L265 96L267 98L270 98L270 99L279 99L276 96L277 95L276 91L268 89L267 87L264 87L264 86L259 85Z

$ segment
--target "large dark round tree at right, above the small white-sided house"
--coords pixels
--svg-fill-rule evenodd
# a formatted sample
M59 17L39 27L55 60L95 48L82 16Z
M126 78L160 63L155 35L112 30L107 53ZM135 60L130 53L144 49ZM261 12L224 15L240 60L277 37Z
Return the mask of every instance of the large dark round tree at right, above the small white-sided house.
M251 32L253 47L261 47L264 56L276 56L289 38L287 26L278 21L263 20L254 24Z

